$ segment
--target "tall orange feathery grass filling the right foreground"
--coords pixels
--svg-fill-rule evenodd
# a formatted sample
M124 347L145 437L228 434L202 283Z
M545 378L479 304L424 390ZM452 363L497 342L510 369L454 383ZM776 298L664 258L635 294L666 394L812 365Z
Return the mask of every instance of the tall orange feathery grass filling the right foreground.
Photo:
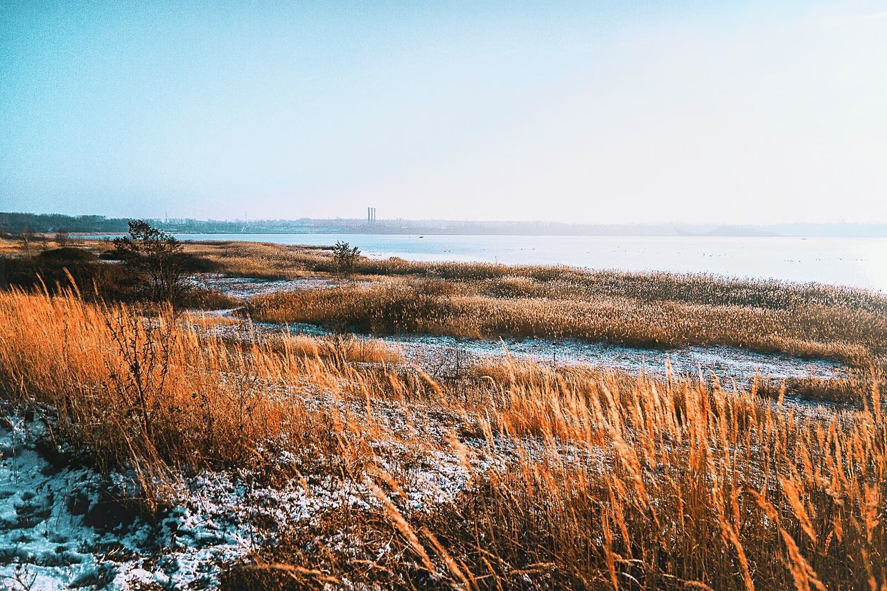
M432 513L405 518L386 502L296 526L263 554L268 569L247 579L235 570L228 582L887 584L887 424L878 390L860 392L867 410L829 420L717 384L559 380L530 366L514 367L507 381L488 401L479 437L482 449L514 450L512 463L478 471L456 503ZM452 445L469 464L477 453L458 439ZM345 546L334 542L342 536ZM299 571L279 577L280 564Z

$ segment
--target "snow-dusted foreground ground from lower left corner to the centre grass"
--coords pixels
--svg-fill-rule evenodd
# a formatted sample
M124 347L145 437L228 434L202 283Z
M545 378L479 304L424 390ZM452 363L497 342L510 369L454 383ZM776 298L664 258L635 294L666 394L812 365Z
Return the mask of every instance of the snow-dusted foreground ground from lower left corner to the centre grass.
M45 415L3 410L0 588L212 588L226 565L272 539L279 528L343 504L376 502L366 479L317 474L271 486L257 484L261 479L249 472L208 472L172 478L168 508L151 523L116 501L133 495L131 475L102 477L51 444L52 423ZM398 412L380 412L385 421L403 422ZM416 428L401 427L404 433ZM421 429L443 437L448 427ZM451 501L467 484L467 471L452 453L416 450L391 439L372 449L373 465L402 483L406 508ZM281 470L298 462L287 452L277 461Z

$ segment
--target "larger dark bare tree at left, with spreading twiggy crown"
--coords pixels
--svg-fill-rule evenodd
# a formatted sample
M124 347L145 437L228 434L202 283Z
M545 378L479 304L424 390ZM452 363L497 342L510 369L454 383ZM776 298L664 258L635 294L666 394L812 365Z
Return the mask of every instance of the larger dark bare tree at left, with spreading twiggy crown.
M114 239L121 260L150 281L151 296L158 302L175 302L188 289L184 247L175 237L147 222L130 221L129 236Z

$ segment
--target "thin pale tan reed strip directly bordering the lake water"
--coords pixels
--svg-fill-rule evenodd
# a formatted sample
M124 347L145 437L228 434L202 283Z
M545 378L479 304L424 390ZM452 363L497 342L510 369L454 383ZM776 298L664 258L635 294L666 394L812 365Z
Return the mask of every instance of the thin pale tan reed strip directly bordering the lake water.
M100 248L98 240L88 240ZM2 243L0 243L2 244ZM297 279L335 274L330 247L228 240L186 241L187 252L216 265L225 275ZM353 274L475 283L484 294L510 298L589 299L621 296L648 302L750 306L791 310L799 306L845 307L887 312L883 295L860 288L819 283L750 280L703 273L591 271L568 266L406 261L358 257Z

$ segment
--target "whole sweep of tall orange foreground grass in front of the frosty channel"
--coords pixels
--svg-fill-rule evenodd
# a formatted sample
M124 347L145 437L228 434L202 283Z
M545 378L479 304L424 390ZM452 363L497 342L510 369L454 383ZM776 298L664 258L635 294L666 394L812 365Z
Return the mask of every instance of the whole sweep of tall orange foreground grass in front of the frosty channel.
M277 524L229 588L887 588L874 378L859 410L815 413L717 381L514 362L448 386L174 318L0 294L0 393L54 408L57 437L98 465L143 471L146 497L165 471L271 466L270 448L368 485L365 503ZM392 409L459 420L442 449ZM455 502L398 493L369 442L404 437L461 461Z

